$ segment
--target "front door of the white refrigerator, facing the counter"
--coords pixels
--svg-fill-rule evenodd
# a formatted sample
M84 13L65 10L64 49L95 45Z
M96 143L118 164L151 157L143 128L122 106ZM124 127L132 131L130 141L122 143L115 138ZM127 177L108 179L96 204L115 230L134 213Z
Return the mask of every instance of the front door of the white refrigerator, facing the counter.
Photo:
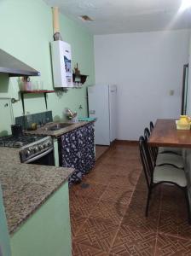
M96 145L110 145L108 85L88 87L89 117L96 118Z

